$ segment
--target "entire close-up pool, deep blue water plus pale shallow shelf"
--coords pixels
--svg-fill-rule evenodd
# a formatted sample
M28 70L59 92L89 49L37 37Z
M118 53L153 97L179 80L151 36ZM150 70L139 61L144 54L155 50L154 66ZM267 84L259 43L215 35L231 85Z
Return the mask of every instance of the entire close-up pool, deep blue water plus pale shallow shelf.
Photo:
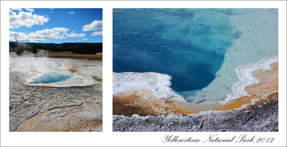
M113 72L172 76L189 102L225 99L235 68L278 56L278 9L113 9Z

